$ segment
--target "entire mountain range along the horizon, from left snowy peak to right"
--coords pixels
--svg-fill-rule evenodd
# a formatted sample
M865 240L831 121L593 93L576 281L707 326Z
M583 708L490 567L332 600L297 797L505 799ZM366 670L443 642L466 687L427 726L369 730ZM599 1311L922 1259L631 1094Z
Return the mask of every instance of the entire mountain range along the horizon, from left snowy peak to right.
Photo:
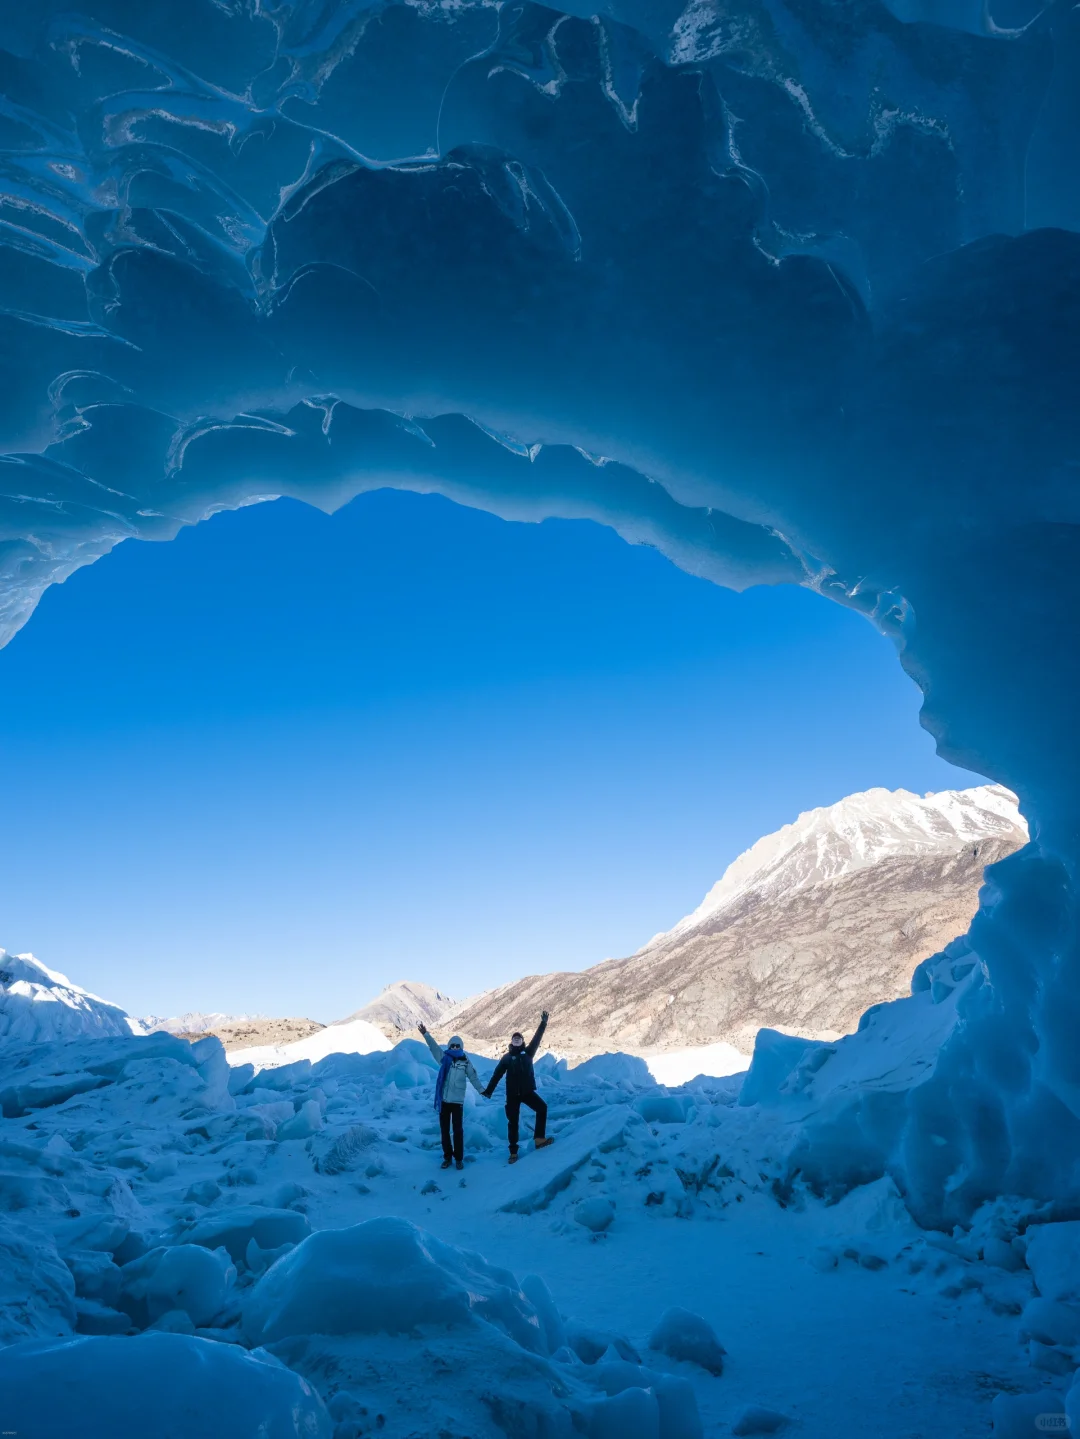
M571 1056L706 1045L745 1055L762 1026L833 1038L870 1004L907 993L916 964L966 930L985 865L1025 840L1001 786L867 790L759 839L692 914L627 958L462 1002L403 980L329 1026L201 1012L131 1019L33 955L0 950L0 1039L168 1029L217 1035L237 1062L283 1063L383 1048L421 1020L492 1050L549 1009L548 1043Z

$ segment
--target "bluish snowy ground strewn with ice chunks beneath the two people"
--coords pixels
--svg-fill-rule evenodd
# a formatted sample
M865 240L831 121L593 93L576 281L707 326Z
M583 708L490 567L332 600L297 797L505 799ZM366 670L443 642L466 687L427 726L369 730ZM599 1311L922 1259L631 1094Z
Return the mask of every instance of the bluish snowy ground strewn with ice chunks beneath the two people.
M508 1166L469 1091L457 1173L418 1042L260 1073L213 1038L9 1045L0 1427L964 1439L995 1394L1064 1413L1079 1226L998 1202L923 1232L887 1179L825 1204L800 1121L739 1078L538 1073L555 1144Z

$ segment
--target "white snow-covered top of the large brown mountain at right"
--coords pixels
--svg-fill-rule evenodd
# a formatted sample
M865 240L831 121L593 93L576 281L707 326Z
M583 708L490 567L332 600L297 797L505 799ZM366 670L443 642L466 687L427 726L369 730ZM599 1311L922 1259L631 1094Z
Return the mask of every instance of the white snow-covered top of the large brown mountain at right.
M969 790L863 790L836 804L807 810L765 835L732 861L697 908L644 945L656 945L715 920L748 895L794 894L884 859L946 855L994 836L1020 833L1027 823L1017 797L1001 784Z

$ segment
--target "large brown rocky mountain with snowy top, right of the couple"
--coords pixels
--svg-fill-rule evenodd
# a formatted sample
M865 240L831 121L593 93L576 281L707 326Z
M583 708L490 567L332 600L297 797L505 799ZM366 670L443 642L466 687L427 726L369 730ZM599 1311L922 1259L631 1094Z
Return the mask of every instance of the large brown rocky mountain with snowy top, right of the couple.
M801 814L741 855L674 928L623 960L531 976L454 1016L479 1049L541 1009L569 1055L731 1043L762 1026L834 1038L962 934L982 871L1027 840L999 786L869 790Z

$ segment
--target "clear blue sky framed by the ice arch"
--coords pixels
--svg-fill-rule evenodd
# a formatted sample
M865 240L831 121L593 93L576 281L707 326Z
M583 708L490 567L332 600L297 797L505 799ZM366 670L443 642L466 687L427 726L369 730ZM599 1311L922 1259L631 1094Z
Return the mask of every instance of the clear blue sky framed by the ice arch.
M122 544L0 695L0 945L139 1014L581 968L800 810L978 783L853 613L385 491Z

